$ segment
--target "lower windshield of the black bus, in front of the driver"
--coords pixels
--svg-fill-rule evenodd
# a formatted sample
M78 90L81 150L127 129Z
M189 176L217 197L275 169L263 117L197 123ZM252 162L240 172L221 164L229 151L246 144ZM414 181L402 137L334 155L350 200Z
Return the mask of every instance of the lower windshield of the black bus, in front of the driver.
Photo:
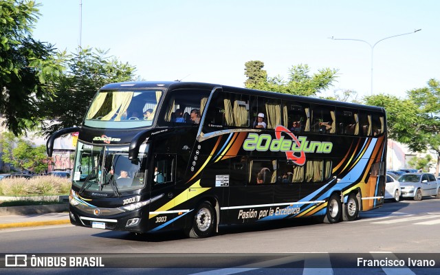
M128 146L96 146L78 142L74 186L84 190L114 192L142 188L146 177L148 144L142 144L136 160Z

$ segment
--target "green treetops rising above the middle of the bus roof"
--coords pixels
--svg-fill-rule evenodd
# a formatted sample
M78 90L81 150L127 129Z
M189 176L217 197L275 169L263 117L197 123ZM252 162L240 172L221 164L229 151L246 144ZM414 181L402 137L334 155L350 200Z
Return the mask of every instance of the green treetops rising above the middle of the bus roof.
M280 76L268 77L263 67L264 63L261 61L245 63L245 75L248 76L245 87L299 96L316 96L318 92L331 86L338 72L336 69L325 68L319 69L317 74L311 76L309 66L300 64L289 69L289 80L285 81Z

